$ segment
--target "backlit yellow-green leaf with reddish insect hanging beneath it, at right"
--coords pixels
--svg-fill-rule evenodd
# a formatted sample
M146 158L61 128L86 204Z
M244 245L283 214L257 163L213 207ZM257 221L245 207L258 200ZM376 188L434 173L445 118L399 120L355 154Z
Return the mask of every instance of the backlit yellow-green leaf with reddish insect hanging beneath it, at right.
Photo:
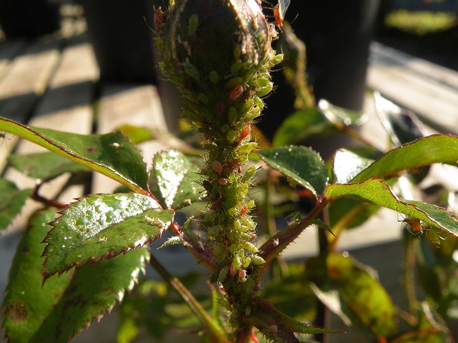
M325 197L328 201L350 198L383 206L404 213L408 217L417 218L454 236L458 235L458 221L453 213L436 205L401 199L392 192L387 183L378 179L368 179L357 183L330 184L325 191Z

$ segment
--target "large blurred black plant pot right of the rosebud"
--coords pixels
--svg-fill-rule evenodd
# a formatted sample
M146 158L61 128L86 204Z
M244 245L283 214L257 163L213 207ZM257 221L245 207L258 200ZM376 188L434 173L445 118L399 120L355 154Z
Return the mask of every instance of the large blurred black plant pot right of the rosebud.
M317 102L362 109L366 89L369 43L379 0L292 1L286 19L304 41L308 82ZM272 137L281 121L294 111L294 92L281 72L273 73L276 92L266 99L261 129Z

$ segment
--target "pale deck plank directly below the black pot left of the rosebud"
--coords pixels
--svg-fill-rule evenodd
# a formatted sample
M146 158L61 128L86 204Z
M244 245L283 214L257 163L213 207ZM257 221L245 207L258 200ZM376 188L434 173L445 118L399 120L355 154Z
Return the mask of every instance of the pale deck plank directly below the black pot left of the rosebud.
M157 88L151 85L107 84L102 87L98 112L98 133L109 133L123 124L149 126L167 130ZM152 155L165 146L159 142L139 144L148 163ZM119 185L101 174L95 174L92 192L107 193Z

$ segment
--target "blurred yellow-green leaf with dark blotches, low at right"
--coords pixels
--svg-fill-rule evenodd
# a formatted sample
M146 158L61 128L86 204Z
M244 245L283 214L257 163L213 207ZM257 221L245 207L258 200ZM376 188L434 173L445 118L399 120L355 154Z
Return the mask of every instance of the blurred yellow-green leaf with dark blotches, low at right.
M331 288L377 337L389 337L396 330L396 309L386 290L352 258L329 254L326 259ZM342 306L342 308L344 308Z

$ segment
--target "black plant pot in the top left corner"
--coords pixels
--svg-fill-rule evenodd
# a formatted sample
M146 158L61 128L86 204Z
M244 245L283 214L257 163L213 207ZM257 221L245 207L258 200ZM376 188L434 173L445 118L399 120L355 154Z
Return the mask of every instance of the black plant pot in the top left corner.
M0 25L8 39L34 38L60 28L56 0L0 0Z

